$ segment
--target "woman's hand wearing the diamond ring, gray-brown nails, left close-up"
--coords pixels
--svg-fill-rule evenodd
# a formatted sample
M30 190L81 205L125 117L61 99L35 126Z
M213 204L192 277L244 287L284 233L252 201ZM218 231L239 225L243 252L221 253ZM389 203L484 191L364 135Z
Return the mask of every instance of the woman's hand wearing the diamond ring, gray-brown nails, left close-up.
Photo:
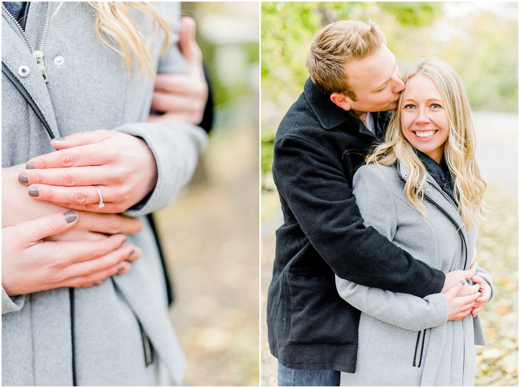
M120 213L157 184L157 165L146 142L108 130L74 133L51 144L58 151L32 158L18 181L34 199L74 210ZM98 186L105 207L98 206Z

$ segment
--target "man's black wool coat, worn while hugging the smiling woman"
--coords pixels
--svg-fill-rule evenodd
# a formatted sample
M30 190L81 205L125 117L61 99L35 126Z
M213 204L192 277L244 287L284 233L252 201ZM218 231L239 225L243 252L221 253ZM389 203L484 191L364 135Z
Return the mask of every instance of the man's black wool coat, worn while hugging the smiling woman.
M378 132L390 114L374 115ZM365 228L352 179L375 136L307 80L282 119L272 167L282 205L267 300L271 353L296 369L356 370L359 311L337 294L352 282L424 297L445 275Z

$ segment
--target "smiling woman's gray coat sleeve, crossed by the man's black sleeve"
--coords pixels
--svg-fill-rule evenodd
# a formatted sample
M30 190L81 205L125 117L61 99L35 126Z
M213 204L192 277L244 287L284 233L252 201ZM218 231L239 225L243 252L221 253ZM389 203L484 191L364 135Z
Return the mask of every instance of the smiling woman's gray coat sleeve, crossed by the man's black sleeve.
M354 176L354 195L365 225L372 225L391 241L397 228L392 186L376 165L362 166ZM340 296L356 309L404 329L419 331L444 325L448 318L446 299L441 293L419 298L361 286L337 276L336 287Z

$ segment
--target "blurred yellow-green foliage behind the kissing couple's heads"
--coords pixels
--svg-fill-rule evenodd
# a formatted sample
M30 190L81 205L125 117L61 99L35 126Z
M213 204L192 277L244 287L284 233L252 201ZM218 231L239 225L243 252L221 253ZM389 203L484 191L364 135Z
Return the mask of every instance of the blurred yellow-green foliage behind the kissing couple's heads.
M475 109L517 112L518 3L264 2L262 3L262 171L271 169L276 128L303 90L305 58L322 26L372 20L401 70L413 58L449 63Z

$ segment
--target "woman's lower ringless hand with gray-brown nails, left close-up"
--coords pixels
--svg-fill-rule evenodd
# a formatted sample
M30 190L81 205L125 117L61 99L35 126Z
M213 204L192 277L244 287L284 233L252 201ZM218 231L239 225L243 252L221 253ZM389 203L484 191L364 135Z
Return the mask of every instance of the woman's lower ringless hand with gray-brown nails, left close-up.
M2 229L2 285L9 296L59 287L89 287L130 270L141 256L116 234L95 244L52 242L48 236L70 230L77 212L54 213Z

